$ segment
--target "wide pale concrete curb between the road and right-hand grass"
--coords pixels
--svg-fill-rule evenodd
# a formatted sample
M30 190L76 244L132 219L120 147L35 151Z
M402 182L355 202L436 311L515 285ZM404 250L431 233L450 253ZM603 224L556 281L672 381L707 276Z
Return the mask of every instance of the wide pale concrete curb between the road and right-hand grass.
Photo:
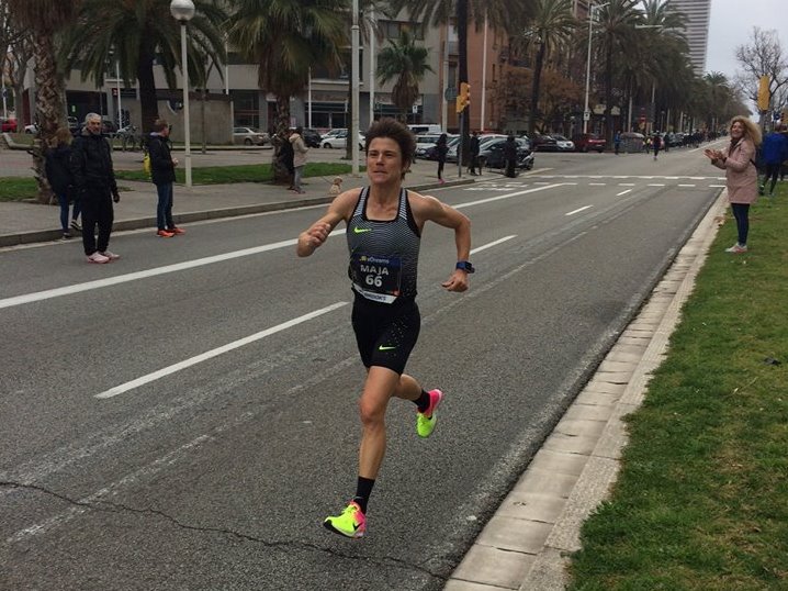
M641 405L706 261L722 191L616 345L451 575L447 591L559 591L588 515L609 494Z

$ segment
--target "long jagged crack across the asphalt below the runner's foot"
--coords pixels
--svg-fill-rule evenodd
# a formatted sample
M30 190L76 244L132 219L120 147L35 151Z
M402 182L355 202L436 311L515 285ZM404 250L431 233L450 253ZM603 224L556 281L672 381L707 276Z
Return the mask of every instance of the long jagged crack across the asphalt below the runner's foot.
M13 490L13 489L31 490L31 491L40 492L42 494L46 494L48 497L54 497L55 499L64 501L74 506L94 510L94 511L102 511L102 512L106 512L106 513L128 512L128 513L134 513L137 515L154 515L154 516L165 518L166 521L172 523L173 525L176 525L177 527L179 527L181 529L233 536L238 539L254 542L256 544L262 544L267 548L289 548L289 549L301 548L301 549L325 553L325 554L329 554L331 556L336 556L339 558L347 558L350 560L363 560L365 562L379 562L381 565L392 565L393 564L397 567L402 567L407 570L419 571L419 572L427 575L434 579L438 579L438 580L441 580L444 582L449 580L448 577L446 577L443 575L438 575L437 572L432 572L428 568L421 567L419 565L414 565L412 562L408 562L407 560L403 560L401 558L395 558L392 556L385 556L385 557L354 556L351 554L338 551L333 548L318 546L317 544L312 544L308 542L297 542L297 540L270 542L270 540L267 540L267 539L254 536L254 535L243 534L240 532L235 532L233 529L226 529L223 527L206 527L206 526L190 525L190 524L183 523L183 522L179 521L177 517L173 517L172 515L169 515L169 514L165 513L164 511L159 511L157 509L137 509L137 508L128 506L128 505L125 505L122 503L113 503L110 501L99 501L99 502L79 501L79 500L71 499L70 497L67 497L59 492L49 490L45 487L41 487L38 484L30 484L30 483L0 480L0 488L11 489L11 490Z

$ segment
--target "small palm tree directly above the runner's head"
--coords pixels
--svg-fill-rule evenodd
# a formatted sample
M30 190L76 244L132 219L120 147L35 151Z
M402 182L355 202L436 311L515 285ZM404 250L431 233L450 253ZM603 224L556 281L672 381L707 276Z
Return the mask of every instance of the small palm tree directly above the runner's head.
M389 47L378 56L378 79L382 85L396 78L392 89L392 101L402 111L403 121L418 98L418 85L432 68L427 64L429 51L414 43L407 31L399 33L399 40L390 41Z

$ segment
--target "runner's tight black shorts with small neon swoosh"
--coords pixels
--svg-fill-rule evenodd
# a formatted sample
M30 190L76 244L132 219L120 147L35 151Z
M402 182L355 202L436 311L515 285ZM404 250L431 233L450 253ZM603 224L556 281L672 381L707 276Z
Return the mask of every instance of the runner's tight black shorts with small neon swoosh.
M405 371L421 327L415 301L387 304L356 293L352 324L364 367L385 367L399 375Z

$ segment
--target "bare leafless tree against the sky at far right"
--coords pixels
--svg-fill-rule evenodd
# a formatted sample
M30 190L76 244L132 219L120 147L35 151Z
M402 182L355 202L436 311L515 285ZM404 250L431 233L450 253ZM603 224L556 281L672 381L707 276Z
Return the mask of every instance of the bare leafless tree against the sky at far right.
M764 31L754 26L752 43L736 47L736 59L743 69L738 75L738 81L748 99L757 102L762 76L769 77L769 93L773 99L785 97L780 89L788 82L788 57L780 46L777 31ZM774 109L781 105L775 104L773 100L770 107Z

